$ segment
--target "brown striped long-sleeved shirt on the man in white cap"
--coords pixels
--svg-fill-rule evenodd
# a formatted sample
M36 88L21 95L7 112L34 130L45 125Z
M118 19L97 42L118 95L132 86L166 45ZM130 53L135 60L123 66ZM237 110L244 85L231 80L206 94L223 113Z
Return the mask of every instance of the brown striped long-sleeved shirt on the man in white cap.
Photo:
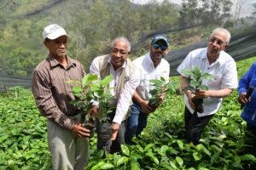
M32 93L43 116L71 129L75 123L71 116L79 109L71 105L74 99L70 80L82 81L84 70L79 61L67 57L65 69L56 59L48 57L37 65L32 78Z

